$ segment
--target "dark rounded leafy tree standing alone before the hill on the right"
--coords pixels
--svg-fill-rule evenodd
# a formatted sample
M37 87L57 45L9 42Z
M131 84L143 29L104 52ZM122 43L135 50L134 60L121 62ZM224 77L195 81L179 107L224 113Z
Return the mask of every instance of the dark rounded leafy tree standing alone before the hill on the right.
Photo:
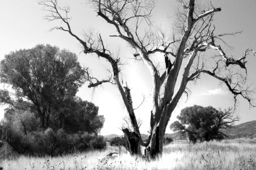
M226 137L221 129L231 128L237 117L233 116L232 109L218 111L213 107L201 107L194 105L181 110L179 121L170 125L173 131L187 131L189 141L195 143L199 141L221 140Z

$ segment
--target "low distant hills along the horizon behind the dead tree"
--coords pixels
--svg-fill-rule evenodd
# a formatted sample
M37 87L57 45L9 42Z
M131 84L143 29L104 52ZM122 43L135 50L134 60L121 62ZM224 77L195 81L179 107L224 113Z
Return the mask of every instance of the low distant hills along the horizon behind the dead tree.
M233 128L222 129L221 131L226 135L228 135L229 139L250 138L250 137L256 138L256 120L236 125ZM141 135L142 135L143 141L147 139L146 134L141 134ZM123 137L123 135L110 134L110 135L104 136L105 141L110 141L114 137ZM181 133L179 132L171 133L171 134L166 133L165 137L171 137L172 139L175 139L175 140L185 139L185 137L181 135Z

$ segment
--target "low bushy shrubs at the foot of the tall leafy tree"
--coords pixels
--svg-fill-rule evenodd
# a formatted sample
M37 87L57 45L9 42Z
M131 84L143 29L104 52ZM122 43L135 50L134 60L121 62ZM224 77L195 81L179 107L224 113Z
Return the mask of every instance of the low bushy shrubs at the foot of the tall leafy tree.
M93 108L97 109L97 107ZM93 111L92 113L96 114ZM5 121L0 122L0 130L1 132L5 131L7 134L5 141L18 154L56 156L85 151L90 148L102 149L106 146L100 138L95 137L95 134L89 134L85 131L67 131L60 129L58 126L52 126L44 130L40 128L39 119L29 111L8 109L5 116ZM103 123L103 121L101 122ZM68 126L64 124L64 127L67 129ZM93 125L93 127L96 126ZM93 131L93 129L91 128L90 131ZM97 131L97 128L94 131Z

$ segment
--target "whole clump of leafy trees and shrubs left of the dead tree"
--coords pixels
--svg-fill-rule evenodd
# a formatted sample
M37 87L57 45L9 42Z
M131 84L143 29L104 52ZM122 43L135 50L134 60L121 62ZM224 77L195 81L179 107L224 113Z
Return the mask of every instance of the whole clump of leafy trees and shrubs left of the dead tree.
M104 117L96 105L76 97L83 75L76 55L55 46L37 45L7 54L0 79L14 95L0 91L0 102L9 104L0 137L19 154L28 155L105 148L97 135Z

